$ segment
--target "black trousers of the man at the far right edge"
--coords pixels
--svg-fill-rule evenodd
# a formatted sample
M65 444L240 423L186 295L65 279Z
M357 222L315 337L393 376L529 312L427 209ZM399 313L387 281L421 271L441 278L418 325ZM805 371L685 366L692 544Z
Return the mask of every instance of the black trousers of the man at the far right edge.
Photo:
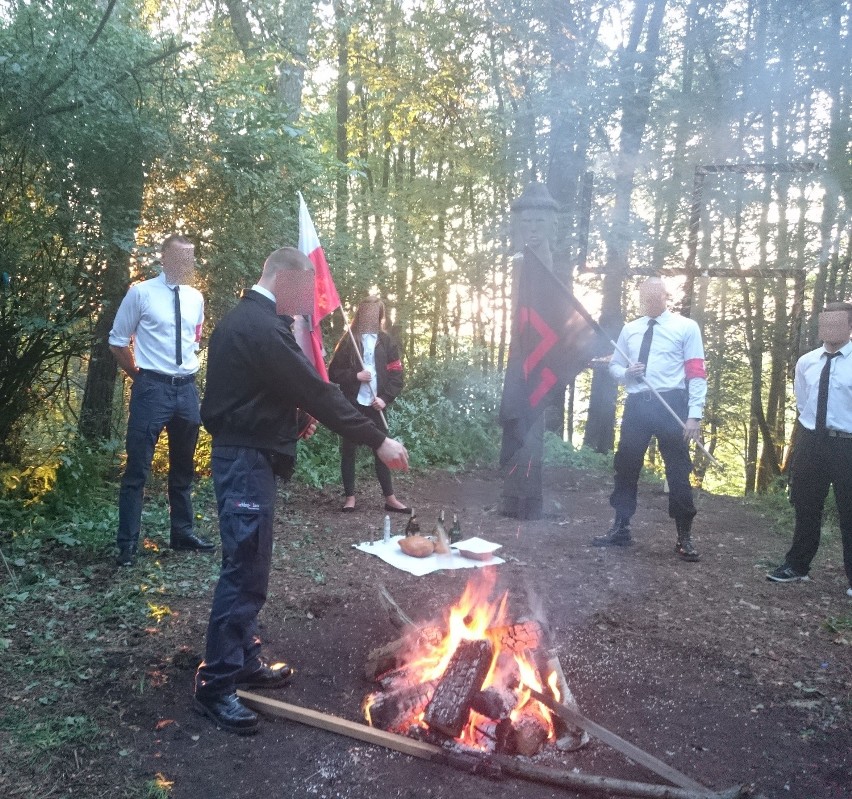
M834 486L843 565L852 586L852 438L820 436L801 425L798 433L790 464L790 501L796 527L785 561L800 574L808 573L819 549L828 489Z

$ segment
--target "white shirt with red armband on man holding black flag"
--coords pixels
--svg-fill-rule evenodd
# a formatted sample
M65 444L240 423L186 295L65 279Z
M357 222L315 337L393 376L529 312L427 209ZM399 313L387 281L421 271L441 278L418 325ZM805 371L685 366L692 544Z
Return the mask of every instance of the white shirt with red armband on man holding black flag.
M628 377L627 367L639 360L639 349L649 319L648 316L640 316L622 328L609 364L610 374L624 384L628 394L649 391L648 386L660 392L684 389L689 378L689 418L700 419L707 399L707 376L701 331L694 320L671 311L663 311L657 316L645 378L633 380Z

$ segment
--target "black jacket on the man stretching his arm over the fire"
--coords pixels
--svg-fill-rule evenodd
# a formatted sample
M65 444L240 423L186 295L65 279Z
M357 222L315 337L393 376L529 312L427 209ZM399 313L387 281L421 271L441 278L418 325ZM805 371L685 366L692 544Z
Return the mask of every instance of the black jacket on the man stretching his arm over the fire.
M305 358L288 316L246 291L216 325L207 349L201 419L213 446L255 447L295 456L301 409L345 438L378 449L386 436L326 383Z

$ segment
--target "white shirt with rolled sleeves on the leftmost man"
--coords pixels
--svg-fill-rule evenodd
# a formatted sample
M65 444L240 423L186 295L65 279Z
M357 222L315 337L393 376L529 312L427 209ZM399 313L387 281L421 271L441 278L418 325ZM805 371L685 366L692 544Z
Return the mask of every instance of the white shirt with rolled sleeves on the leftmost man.
M140 369L185 376L198 371L198 344L204 324L204 298L192 286L180 287L181 357L175 361L174 286L163 274L131 286L115 315L109 343L129 347Z

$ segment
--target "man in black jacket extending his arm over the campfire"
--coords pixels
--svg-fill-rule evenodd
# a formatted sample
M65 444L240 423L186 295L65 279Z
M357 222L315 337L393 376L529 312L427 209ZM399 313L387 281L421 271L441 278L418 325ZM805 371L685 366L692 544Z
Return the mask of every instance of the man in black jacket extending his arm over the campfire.
M286 291L282 273L310 268L292 247L273 252L257 284L216 326L208 348L201 418L213 437L222 568L195 677L195 706L238 734L256 732L258 717L235 688L279 688L292 674L286 664L261 659L257 615L269 582L275 476L292 474L304 429L300 412L371 447L390 468L408 468L405 447L322 380L293 337L292 317L276 313L276 299L286 299L280 296Z

